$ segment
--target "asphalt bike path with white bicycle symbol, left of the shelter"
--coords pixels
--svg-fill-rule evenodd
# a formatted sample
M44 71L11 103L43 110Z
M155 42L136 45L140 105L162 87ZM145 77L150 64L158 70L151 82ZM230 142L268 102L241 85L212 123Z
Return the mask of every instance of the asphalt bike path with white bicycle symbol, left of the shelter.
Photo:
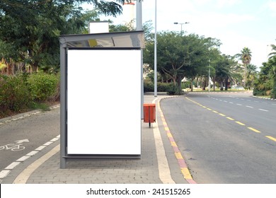
M59 108L10 121L0 124L0 171L59 135Z

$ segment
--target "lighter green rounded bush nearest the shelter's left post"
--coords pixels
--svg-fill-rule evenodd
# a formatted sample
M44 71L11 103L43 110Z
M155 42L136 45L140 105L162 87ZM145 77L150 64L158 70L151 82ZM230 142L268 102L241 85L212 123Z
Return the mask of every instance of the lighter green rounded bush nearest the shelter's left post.
M28 78L30 97L34 101L44 101L57 91L59 77L54 74L37 73Z

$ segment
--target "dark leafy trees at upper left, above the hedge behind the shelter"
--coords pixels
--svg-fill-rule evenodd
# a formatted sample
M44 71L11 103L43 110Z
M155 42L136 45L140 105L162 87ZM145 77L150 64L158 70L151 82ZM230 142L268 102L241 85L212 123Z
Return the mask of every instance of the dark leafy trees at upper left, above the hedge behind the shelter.
M29 64L33 71L58 67L59 35L83 33L86 22L97 20L98 14L117 16L125 1L1 0L0 58ZM97 12L84 12L83 3L93 4Z

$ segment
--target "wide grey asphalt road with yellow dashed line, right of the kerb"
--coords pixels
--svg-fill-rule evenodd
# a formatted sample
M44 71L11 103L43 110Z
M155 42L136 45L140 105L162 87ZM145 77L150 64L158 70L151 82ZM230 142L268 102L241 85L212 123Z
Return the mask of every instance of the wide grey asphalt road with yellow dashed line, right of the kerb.
M161 101L198 183L276 183L276 101L194 93Z

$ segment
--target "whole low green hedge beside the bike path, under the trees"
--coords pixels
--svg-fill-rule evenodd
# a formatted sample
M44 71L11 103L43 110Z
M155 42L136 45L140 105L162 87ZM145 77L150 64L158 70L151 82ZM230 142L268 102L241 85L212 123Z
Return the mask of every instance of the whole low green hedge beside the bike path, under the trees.
M0 117L29 107L47 110L42 102L57 94L58 82L53 74L0 75Z

